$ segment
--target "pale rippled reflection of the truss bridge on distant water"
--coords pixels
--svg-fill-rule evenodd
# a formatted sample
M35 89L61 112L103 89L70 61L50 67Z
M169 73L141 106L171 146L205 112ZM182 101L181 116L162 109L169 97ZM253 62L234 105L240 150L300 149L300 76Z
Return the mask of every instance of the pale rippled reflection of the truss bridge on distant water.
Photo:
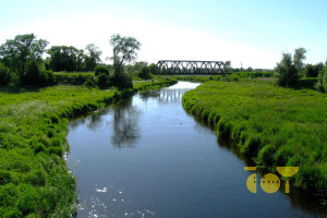
M149 98L156 98L161 104L181 101L184 93L191 89L169 89L162 88L161 90L149 90L140 93L140 98L147 101Z

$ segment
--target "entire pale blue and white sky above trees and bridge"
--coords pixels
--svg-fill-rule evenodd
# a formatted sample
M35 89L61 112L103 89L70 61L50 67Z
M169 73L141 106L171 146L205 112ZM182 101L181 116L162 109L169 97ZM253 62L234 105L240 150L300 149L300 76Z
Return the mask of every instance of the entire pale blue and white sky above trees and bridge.
M111 56L120 33L142 44L138 61L230 60L234 68L270 68L282 52L327 59L327 1L0 0L0 44L34 33L50 45L96 44Z

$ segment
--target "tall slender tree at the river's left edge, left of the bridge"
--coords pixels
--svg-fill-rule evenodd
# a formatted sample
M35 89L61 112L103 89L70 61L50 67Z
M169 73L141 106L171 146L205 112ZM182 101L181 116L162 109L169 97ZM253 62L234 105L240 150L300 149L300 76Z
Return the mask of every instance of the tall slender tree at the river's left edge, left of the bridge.
M137 51L141 48L141 43L134 37L123 37L114 34L110 38L110 44L113 47L113 82L119 88L132 87L132 78L123 72L123 64L134 61L137 58Z

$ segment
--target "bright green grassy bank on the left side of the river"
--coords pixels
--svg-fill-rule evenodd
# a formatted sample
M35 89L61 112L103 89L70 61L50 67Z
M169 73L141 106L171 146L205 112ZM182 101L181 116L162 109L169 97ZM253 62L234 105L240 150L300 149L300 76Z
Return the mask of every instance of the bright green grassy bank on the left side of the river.
M174 80L140 81L133 89L0 87L0 217L69 217L76 183L63 159L70 118Z

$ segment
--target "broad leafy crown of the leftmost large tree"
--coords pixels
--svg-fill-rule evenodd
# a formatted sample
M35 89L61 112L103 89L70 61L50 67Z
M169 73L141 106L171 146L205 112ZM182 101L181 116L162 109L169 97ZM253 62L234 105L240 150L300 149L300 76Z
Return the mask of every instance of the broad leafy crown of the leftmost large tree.
M0 46L0 57L7 68L22 76L27 62L40 62L49 43L36 39L34 34L17 35Z

